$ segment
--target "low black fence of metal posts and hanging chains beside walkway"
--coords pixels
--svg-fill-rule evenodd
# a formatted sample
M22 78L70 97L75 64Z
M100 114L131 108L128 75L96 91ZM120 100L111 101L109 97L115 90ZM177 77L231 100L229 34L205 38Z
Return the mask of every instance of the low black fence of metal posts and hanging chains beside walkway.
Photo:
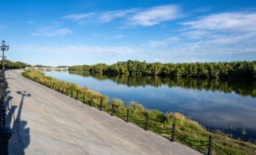
M31 79L33 80L33 79ZM227 152L227 150L224 150L220 147L220 144L217 144L213 141L213 138L211 135L208 136L208 139L205 140L194 140L192 138L189 138L187 135L184 135L180 132L179 129L177 129L177 124L173 122L171 127L159 127L156 124L159 124L159 121L153 120L149 117L148 114L146 114L146 117L142 119L138 119L136 116L133 116L129 109L127 108L126 111L119 111L118 108L115 108L115 106L112 104L112 106L104 107L103 101L100 99L100 104L93 101L93 98L86 99L85 94L79 94L79 91L69 90L68 88L59 87L51 83L47 83L45 81L39 81L34 80L38 82L39 84L45 85L46 87L49 87L53 90L56 90L59 93L63 93L66 96L69 96L73 99L79 100L83 102L84 104L90 105L91 107L97 108L100 111L105 111L106 113L119 117L120 119L124 120L125 122L134 123L137 126L140 126L140 128L143 128L145 130L151 130L153 132L156 132L159 135L162 135L165 138L168 138L170 141L177 141L181 144L185 144L189 147L193 147L193 149L198 150L201 153L211 155L211 154L231 154ZM66 90L65 90L66 89Z

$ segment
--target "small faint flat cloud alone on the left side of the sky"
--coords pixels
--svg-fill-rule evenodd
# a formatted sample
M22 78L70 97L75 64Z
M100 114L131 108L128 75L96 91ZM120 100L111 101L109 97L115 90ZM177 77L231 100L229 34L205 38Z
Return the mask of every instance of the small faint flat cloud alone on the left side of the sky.
M34 36L57 36L57 35L69 35L72 34L72 30L68 28L60 29L38 29L36 32L33 32L31 35Z

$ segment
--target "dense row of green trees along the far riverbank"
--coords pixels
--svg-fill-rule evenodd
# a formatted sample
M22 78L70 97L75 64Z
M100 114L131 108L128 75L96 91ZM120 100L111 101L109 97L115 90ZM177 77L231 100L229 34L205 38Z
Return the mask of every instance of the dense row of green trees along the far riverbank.
M128 60L113 65L74 65L69 71L90 71L100 74L140 74L182 78L256 78L256 61L252 62L195 62L147 63Z

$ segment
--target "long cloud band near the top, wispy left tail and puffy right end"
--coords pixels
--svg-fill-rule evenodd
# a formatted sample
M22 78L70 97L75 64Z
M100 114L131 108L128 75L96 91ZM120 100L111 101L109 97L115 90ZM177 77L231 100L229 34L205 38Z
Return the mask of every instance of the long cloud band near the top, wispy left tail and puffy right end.
M125 20L128 25L154 26L182 17L177 5L161 5L153 8L131 8L118 11L105 11L100 13L69 14L64 19L86 23L85 20L95 18L97 23L109 23L116 19Z

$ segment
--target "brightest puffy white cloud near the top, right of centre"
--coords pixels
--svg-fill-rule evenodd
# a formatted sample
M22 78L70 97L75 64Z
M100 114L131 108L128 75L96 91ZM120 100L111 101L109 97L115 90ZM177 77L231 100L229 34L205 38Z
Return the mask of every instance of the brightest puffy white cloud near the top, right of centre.
M163 5L140 11L129 20L133 25L153 26L161 22L170 21L181 17L180 8L177 5Z

